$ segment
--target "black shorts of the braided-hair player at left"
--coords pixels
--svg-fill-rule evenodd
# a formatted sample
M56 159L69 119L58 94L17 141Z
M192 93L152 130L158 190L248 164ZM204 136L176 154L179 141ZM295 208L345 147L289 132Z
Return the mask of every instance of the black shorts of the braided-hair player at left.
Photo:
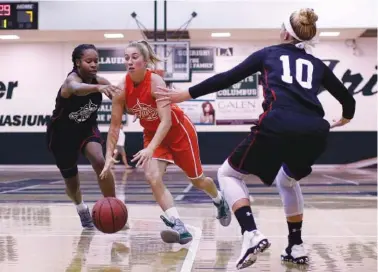
M78 129L47 129L48 148L55 158L61 172L77 169L80 152L84 154L85 146L89 142L103 144L101 133L97 126Z

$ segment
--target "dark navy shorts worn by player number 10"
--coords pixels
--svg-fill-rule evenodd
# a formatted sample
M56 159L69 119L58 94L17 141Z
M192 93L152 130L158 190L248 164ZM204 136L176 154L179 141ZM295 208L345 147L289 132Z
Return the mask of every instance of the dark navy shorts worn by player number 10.
M229 156L230 165L270 186L283 164L300 180L327 146L329 123L319 117L267 114Z

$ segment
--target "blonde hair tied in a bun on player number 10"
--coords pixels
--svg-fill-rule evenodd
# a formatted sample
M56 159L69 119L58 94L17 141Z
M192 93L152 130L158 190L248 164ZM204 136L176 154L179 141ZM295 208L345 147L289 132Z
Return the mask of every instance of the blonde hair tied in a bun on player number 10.
M295 11L290 16L290 23L295 34L303 41L309 41L315 37L317 20L318 15L310 8Z

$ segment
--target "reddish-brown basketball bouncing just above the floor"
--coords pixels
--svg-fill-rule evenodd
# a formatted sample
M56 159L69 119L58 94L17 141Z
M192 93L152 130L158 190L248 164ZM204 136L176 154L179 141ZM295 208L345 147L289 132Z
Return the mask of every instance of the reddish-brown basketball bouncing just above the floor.
M125 204L115 197L105 197L92 209L93 223L103 233L116 233L126 225L128 212Z

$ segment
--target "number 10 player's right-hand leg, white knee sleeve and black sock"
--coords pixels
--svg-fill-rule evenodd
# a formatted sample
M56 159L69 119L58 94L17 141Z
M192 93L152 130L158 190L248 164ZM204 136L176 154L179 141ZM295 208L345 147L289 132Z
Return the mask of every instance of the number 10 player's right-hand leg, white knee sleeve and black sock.
M308 264L309 258L301 237L304 207L303 194L296 179L299 179L299 177L292 174L284 164L275 180L289 229L288 246L282 252L281 260L295 264Z

